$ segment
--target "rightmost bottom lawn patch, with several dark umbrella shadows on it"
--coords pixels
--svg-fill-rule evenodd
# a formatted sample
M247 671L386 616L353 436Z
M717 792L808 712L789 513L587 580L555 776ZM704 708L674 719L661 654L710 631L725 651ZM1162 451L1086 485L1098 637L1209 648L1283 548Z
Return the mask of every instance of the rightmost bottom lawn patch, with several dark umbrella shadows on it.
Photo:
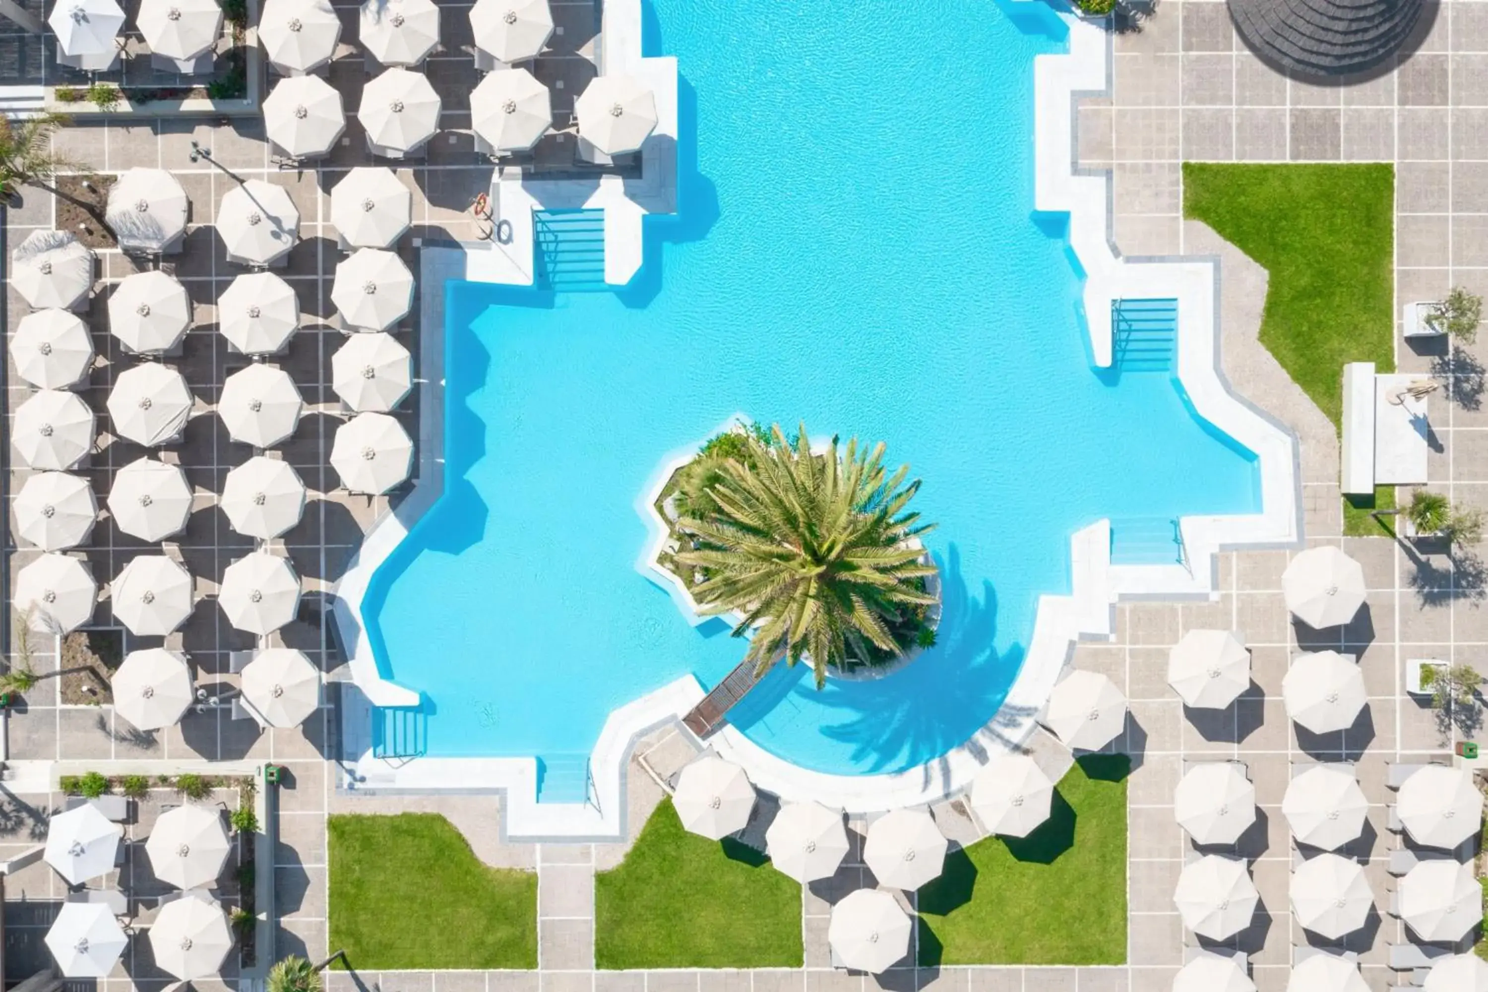
M920 964L1123 964L1126 756L1085 756L1024 839L946 857L920 889Z

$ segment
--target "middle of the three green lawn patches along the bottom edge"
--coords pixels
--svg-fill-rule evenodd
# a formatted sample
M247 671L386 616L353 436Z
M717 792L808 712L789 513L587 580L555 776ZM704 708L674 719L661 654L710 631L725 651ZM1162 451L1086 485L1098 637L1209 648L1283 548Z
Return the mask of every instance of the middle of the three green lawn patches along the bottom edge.
M735 840L682 828L671 800L594 879L601 968L799 968L801 886Z

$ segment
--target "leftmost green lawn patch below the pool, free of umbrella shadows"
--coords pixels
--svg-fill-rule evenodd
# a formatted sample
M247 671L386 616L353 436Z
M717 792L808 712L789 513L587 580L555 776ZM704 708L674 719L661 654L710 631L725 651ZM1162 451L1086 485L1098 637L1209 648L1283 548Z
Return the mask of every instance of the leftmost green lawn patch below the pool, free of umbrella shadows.
M537 967L533 872L487 867L437 814L332 817L327 833L330 946L351 967Z

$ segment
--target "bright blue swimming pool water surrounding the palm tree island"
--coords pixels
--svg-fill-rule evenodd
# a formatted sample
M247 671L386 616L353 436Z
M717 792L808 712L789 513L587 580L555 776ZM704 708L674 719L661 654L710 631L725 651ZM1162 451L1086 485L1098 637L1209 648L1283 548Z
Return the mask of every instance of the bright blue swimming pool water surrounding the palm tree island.
M555 769L613 708L687 672L714 684L743 644L634 568L634 504L734 412L799 419L884 440L924 479L940 644L823 692L777 671L734 723L811 769L923 763L995 712L1037 596L1068 592L1073 531L1112 518L1126 559L1171 561L1177 516L1259 509L1254 460L1162 354L1089 361L1061 219L1033 214L1033 58L1062 48L1046 10L647 16L647 51L682 71L680 216L647 219L623 292L448 287L446 492L372 583L382 672L424 693L430 754Z

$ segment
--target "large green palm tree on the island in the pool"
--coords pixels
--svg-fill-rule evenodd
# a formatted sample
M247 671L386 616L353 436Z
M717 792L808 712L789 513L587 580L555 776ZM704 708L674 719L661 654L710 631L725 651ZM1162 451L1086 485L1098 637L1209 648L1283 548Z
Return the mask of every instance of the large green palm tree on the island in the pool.
M853 439L839 455L833 437L812 454L805 425L795 448L778 425L745 445L716 467L716 510L677 521L695 544L677 562L702 573L699 607L743 614L734 637L757 628L744 656L757 672L809 657L818 689L850 647L862 660L870 647L902 654L891 628L934 604L924 580L936 570L914 540L933 525L906 510L920 480L905 485L908 466L890 476L882 443L860 451Z

